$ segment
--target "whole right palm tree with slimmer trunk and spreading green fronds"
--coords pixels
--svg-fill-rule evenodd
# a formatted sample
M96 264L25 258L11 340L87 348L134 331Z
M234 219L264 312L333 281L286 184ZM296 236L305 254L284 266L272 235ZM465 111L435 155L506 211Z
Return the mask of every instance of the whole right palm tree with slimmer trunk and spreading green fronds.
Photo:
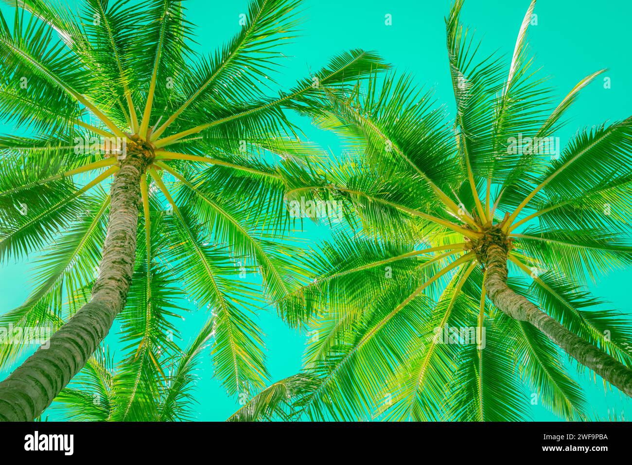
M310 334L310 418L518 420L537 403L585 419L562 350L632 395L629 321L583 287L632 263L632 117L557 152L603 71L556 105L526 51L535 0L509 66L478 57L462 4L446 18L454 120L406 75L327 92L318 122L349 156L288 186L362 226L307 259L316 279L281 305Z

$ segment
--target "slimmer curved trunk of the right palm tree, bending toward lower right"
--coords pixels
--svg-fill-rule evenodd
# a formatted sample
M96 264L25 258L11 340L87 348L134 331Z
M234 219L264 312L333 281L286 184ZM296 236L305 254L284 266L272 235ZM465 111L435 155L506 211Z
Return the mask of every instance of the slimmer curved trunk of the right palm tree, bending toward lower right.
M632 397L632 370L560 325L507 286L507 252L490 245L486 254L485 289L494 305L513 319L528 321L564 352Z

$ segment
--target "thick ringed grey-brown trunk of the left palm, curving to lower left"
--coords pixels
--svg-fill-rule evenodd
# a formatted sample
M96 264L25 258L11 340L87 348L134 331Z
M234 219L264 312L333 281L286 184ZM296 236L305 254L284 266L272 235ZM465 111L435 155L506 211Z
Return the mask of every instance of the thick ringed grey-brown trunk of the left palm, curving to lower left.
M140 177L147 161L128 152L110 189L111 204L92 299L0 383L0 421L37 418L83 368L125 306L134 271Z

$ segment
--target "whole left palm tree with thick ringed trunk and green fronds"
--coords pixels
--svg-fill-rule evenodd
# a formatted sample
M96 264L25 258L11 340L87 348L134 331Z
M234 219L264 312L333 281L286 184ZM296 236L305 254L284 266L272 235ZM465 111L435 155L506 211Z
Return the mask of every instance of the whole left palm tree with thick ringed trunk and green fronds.
M291 243L277 240L286 178L310 151L285 110L308 111L325 88L384 67L349 51L270 96L299 6L253 0L240 32L209 56L191 49L176 0L85 0L78 15L20 0L12 28L0 16L0 113L23 131L0 140L0 259L41 252L35 290L1 321L55 330L0 383L1 420L39 416L93 360L117 316L128 350L114 380L125 403L117 418L137 418L134 406L156 378L168 383L162 364L180 353L179 282L212 310L200 340L213 337L229 394L265 386L252 319L262 292L240 278L257 270L270 302L303 275ZM1 345L1 366L27 342Z

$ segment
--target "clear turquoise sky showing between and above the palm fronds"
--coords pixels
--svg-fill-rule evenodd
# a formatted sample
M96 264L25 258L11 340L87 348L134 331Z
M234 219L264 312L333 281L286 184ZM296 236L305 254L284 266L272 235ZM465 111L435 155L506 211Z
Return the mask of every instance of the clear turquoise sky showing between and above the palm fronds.
M69 5L75 2L69 2ZM342 51L363 48L377 51L397 70L406 71L420 85L435 89L437 101L447 104L454 115L452 84L447 64L444 16L449 11L449 0L306 0L301 37L283 49L288 57L281 84L293 85L307 77L310 70L318 70L329 58ZM246 13L246 0L210 2L187 0L188 19L194 23L197 42L193 46L202 54L214 53L238 32L241 13ZM477 30L483 39L483 52L499 50L511 58L521 20L528 8L528 0L505 2L466 0L462 20ZM3 13L9 8L0 6ZM74 8L74 7L72 7ZM541 0L535 13L538 24L530 27L530 50L535 54L535 66L544 67L550 75L550 85L562 99L586 75L609 68L604 76L611 80L605 89L597 79L583 90L569 112L571 124L559 133L562 144L576 130L621 120L632 108L632 62L629 59L629 18L632 2L611 0ZM10 13L9 13L10 14ZM385 15L392 16L392 25L385 24ZM11 133L11 128L0 125L0 131ZM307 135L322 147L339 152L337 140L331 134L306 130ZM323 229L310 228L305 238L325 239ZM19 306L32 290L28 275L30 260L4 264L0 268L0 313ZM603 276L596 283L588 283L590 290L632 318L629 283L632 270ZM186 302L185 302L186 303ZM207 315L204 311L187 316L179 327L183 329L186 345L197 332ZM295 374L301 366L305 337L289 330L272 311L260 314L260 325L267 335L267 356L272 380ZM112 329L108 340L116 347L117 329ZM4 378L8 374L0 370ZM229 398L219 381L212 378L209 357L205 357L200 372L196 397L198 420L223 421L238 407L237 398ZM609 414L632 418L632 400L624 399L616 390L606 392L600 380L595 383L588 376L578 376L586 389L588 403L595 418ZM58 418L47 412L50 418ZM540 406L533 407L536 420L557 418Z

